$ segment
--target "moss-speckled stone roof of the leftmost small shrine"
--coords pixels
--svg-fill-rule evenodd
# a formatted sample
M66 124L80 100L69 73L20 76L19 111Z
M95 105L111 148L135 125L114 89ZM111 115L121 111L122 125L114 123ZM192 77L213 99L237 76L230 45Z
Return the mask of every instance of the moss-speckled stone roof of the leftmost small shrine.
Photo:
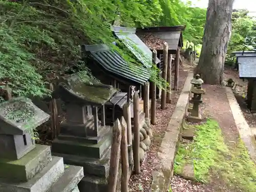
M24 135L46 122L49 115L25 97L0 103L0 134Z

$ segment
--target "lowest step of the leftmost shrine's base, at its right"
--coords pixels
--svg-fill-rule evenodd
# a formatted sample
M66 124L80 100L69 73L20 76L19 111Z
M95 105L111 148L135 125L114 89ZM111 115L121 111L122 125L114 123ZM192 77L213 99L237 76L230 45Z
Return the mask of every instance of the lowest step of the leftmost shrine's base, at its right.
M74 165L65 165L64 174L47 192L71 192L83 178L83 168Z

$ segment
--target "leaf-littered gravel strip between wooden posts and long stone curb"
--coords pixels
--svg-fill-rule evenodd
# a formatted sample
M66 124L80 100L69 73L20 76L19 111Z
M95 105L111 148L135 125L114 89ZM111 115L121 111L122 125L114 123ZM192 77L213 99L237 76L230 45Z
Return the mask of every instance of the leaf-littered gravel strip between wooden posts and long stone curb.
M173 94L172 103L167 103L167 108L165 110L160 109L160 101L157 102L157 110L156 110L156 125L152 125L153 138L151 142L150 149L147 151L147 155L141 165L141 174L140 175L132 175L129 181L129 190L133 191L143 191L148 192L151 191L151 183L152 183L152 170L155 167L155 160L157 159L157 152L159 150L159 146L161 144L162 138L164 136L166 127L172 117L173 111L175 109L176 103L179 99L179 95L182 91L184 82L187 77L187 72L180 69L179 74L179 91ZM173 87L173 82L172 82Z

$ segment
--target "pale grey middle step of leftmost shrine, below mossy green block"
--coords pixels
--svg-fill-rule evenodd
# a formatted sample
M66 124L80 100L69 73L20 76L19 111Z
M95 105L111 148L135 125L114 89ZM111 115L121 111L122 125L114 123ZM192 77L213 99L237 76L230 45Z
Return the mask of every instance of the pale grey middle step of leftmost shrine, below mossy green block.
M9 179L0 178L0 191L47 192L63 173L63 158L52 157L52 161L27 182L8 181Z

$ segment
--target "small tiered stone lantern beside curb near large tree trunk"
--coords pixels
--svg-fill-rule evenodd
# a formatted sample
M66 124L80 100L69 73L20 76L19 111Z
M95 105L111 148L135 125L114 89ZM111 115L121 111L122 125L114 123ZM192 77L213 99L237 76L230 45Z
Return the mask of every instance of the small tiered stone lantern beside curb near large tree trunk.
M191 80L191 83L194 84L194 87L191 88L191 93L194 95L190 100L190 102L193 104L193 107L189 110L190 114L187 120L193 122L200 122L202 120L202 116L199 112L199 104L203 102L202 94L205 94L205 90L202 89L203 80L199 77L199 75L196 75L196 78Z

